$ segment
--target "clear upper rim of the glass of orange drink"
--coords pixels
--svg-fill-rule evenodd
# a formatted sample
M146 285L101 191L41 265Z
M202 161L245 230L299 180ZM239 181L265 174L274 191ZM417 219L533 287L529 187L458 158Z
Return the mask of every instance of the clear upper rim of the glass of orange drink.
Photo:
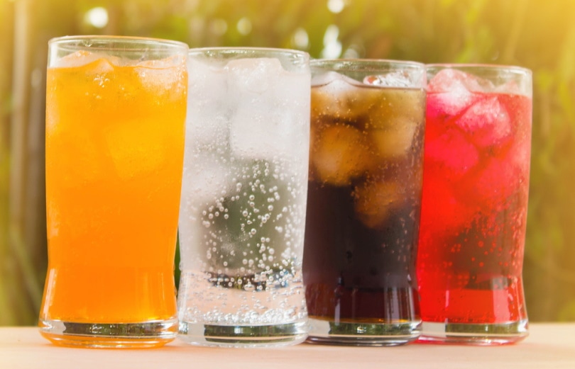
M182 41L177 40L168 40L165 38L150 38L150 37L141 37L141 36L126 36L126 35L67 35L67 36L60 36L51 38L48 40L48 46L57 46L57 47L84 47L84 48L94 48L94 49L102 49L104 48L103 45L100 46L93 46L93 45L82 45L80 42L89 42L90 40L94 40L96 42L122 42L128 45L128 43L133 42L135 45L141 45L141 47L128 47L128 50L144 50L146 47L144 46L160 46L165 47L166 50L172 49L179 49L182 50L189 50L190 47ZM76 44L74 43L76 42ZM108 47L110 48L110 47Z

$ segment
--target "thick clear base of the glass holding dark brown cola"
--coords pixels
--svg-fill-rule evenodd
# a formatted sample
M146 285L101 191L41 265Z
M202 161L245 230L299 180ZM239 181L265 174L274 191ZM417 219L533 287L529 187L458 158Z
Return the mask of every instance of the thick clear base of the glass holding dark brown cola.
M401 323L329 322L310 319L310 344L398 346L420 336L420 321Z

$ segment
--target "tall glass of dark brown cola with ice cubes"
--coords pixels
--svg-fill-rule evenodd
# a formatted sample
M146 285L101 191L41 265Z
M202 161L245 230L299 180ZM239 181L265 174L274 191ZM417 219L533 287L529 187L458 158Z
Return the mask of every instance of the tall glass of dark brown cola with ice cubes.
M425 66L314 60L303 273L315 343L419 336Z

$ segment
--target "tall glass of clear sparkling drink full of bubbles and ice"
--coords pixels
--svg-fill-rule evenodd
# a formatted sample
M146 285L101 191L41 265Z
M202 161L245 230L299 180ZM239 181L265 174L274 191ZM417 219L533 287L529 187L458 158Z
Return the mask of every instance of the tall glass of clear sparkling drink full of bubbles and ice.
M309 56L192 49L188 67L180 338L207 346L301 342Z

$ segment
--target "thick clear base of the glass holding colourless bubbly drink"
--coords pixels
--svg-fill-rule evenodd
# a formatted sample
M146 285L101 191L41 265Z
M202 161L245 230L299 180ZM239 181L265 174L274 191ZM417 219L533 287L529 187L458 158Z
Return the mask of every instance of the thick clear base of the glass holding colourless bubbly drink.
M218 347L278 347L305 341L307 322L262 326L220 326L180 322L178 337L188 344Z

